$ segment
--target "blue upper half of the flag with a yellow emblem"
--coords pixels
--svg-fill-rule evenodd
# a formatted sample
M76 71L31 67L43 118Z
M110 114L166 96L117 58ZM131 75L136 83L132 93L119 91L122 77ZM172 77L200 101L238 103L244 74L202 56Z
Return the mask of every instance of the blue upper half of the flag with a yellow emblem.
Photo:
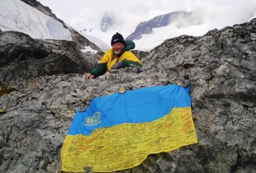
M159 119L174 107L190 107L189 90L190 86L149 86L124 94L97 97L86 111L77 111L68 134L89 135L98 128Z

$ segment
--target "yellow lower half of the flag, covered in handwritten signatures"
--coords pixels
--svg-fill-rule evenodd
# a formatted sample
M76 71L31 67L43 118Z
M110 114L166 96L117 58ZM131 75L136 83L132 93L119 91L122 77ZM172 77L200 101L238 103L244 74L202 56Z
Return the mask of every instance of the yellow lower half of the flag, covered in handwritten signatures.
M68 135L62 148L62 171L110 172L140 165L152 153L197 143L190 107L174 108L148 123L96 129L90 136Z

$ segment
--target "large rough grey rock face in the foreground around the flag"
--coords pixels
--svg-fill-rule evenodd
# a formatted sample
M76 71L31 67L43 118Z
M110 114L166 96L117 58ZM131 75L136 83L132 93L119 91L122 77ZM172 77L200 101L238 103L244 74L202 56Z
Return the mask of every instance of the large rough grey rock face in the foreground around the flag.
M192 86L198 143L149 155L140 166L120 172L256 171L255 40L256 19L201 37L166 40L141 57L142 68L93 80L75 72L7 82L2 90L12 90L0 97L0 172L59 171L62 143L78 105L121 86L171 83Z

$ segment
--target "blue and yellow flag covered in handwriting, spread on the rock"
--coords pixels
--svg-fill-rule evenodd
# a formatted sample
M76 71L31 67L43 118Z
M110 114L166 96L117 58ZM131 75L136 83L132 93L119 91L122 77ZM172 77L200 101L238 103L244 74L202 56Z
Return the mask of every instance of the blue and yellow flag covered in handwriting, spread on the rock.
M149 86L91 101L77 111L61 152L62 171L110 172L152 153L197 143L189 86Z

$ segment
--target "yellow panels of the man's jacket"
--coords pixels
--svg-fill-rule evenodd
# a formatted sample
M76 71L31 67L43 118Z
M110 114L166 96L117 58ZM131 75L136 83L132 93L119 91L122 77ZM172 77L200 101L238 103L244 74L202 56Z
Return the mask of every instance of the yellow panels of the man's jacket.
M107 52L103 55L99 63L107 63L107 71L110 72L111 67L116 63L117 60L122 61L125 58L126 60L135 61L142 65L142 63L140 62L140 59L137 58L135 54L133 54L132 52L126 51L123 54L121 54L121 57L118 59L116 55L113 55L112 49L107 50Z

